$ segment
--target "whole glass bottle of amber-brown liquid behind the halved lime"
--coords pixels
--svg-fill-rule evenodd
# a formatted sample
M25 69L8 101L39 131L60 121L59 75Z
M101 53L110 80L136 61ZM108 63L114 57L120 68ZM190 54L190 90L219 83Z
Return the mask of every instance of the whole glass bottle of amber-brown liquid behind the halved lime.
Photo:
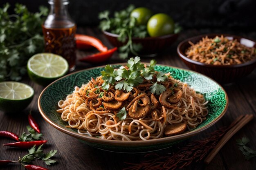
M48 0L49 14L43 23L45 52L55 53L64 57L70 71L75 69L75 33L76 24L67 11L69 0Z

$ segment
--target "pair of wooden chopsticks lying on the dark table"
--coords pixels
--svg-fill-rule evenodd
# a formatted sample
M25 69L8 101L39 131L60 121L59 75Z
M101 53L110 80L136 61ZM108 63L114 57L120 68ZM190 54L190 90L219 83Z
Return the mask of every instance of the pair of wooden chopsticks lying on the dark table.
M220 151L222 146L224 146L227 141L235 135L235 133L243 128L249 121L253 119L253 115L240 115L238 118L236 118L231 125L228 128L227 133L220 139L218 144L213 148L213 150L209 153L209 155L204 159L204 163L209 164L211 160L217 155L217 153Z

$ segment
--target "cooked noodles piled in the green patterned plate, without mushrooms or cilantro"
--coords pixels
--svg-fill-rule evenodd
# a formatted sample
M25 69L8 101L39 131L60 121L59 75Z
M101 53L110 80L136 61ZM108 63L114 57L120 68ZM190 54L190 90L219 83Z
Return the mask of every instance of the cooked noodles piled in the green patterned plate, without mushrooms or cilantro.
M145 80L143 84L133 88L129 98L122 102L122 106L118 109L108 109L103 107L105 106L103 105L104 100L100 95L104 93L107 99L120 91L117 91L115 86L110 86L108 91L103 91L101 85L104 80L101 78L92 79L81 88L76 86L72 94L58 102L60 109L57 112L61 113L63 121L68 122L68 128L76 128L80 134L101 139L148 140L164 137L164 128L169 124L185 122L189 129L195 128L206 119L208 114L206 106L208 101L204 99L204 96L196 93L186 83L170 76L164 86L166 89L180 89L182 91L180 101L171 104L171 108L167 108L159 102L158 106L150 113L140 118L132 118L128 114L129 109L137 106L135 104L144 106L140 100L141 96L147 95L150 98L150 81ZM159 99L159 95L155 95L155 97ZM127 115L124 120L119 120L117 113L122 107L126 108Z

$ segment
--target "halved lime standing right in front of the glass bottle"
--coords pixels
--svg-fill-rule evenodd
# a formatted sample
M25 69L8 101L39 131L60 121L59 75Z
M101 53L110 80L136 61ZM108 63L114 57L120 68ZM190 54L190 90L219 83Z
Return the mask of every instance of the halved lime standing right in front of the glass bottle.
M47 86L68 71L67 61L53 53L38 53L27 62L27 73L34 82Z

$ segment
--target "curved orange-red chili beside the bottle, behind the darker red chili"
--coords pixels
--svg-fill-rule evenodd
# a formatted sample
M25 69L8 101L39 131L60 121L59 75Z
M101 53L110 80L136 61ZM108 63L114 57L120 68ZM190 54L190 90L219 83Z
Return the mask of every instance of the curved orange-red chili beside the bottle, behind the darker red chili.
M90 46L94 46L100 52L108 51L108 48L98 38L82 34L76 34L75 38L77 49L88 49Z

